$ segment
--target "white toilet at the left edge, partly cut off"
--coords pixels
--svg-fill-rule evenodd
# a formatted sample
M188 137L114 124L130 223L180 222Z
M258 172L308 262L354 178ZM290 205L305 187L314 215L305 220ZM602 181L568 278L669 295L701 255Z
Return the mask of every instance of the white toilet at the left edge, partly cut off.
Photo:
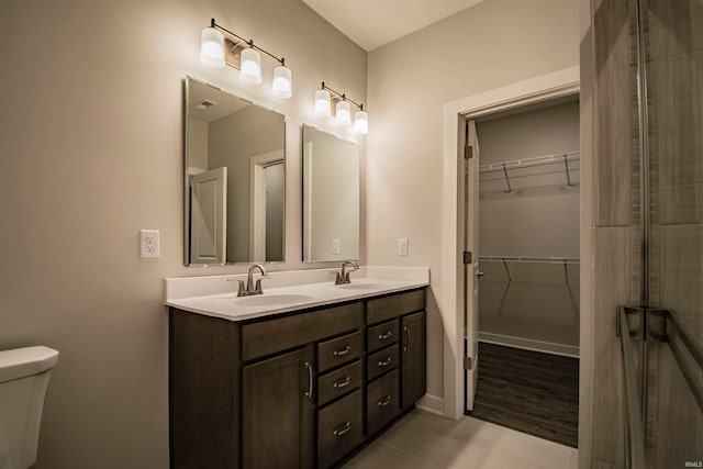
M58 351L25 347L0 351L0 469L36 461L44 397Z

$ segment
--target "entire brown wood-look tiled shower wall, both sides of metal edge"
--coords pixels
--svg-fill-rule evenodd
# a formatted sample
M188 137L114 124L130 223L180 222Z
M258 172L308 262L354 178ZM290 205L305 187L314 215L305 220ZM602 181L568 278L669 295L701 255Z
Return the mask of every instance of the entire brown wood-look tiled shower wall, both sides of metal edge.
M703 5L643 0L650 152L651 306L703 336ZM624 467L617 305L640 304L635 2L593 0L594 322L591 467ZM703 417L669 347L649 346L650 468L703 460ZM699 379L701 377L699 376Z

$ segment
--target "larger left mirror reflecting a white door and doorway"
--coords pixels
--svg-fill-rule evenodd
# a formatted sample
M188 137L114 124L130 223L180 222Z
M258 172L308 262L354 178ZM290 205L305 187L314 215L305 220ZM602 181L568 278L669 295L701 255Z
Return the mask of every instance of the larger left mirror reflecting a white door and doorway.
M186 265L282 261L284 116L191 77L183 89Z

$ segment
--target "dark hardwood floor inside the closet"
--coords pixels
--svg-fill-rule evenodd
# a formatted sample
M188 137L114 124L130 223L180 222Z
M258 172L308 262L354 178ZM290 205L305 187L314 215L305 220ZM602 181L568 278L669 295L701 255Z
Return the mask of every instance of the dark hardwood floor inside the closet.
M576 448L578 358L480 343L468 415Z

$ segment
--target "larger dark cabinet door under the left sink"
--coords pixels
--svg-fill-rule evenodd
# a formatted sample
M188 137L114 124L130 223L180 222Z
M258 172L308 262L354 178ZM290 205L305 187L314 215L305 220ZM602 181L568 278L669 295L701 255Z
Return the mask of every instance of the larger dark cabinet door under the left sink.
M243 467L313 466L312 357L304 348L243 367Z

